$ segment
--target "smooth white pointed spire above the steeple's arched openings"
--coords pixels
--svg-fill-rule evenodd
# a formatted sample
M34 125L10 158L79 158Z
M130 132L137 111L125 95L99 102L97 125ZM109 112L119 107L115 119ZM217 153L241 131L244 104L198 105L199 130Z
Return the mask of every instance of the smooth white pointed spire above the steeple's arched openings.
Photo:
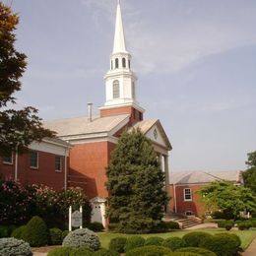
M127 50L125 46L120 0L117 0L113 53L119 52L127 52Z

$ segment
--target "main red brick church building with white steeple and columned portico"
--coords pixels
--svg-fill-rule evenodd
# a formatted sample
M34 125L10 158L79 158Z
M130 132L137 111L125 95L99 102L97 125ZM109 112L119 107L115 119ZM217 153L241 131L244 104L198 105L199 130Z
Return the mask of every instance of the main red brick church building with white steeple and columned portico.
M153 141L165 172L166 191L168 182L169 140L160 120L145 120L145 110L137 100L137 77L132 71L132 56L126 48L120 2L117 4L113 51L110 67L104 76L105 102L98 116L92 116L89 103L88 116L44 122L44 126L55 132L57 137L72 147L69 156L68 187L79 186L93 204L93 222L105 225L105 167L122 132L134 128ZM103 87L99 90L103 90Z

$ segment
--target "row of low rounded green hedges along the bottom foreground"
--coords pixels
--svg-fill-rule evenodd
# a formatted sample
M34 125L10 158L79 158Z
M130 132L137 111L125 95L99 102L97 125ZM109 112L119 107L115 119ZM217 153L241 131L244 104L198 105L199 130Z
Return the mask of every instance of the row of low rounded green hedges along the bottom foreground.
M190 252L205 256L231 256L237 254L240 250L240 245L240 238L233 233L212 235L203 231L194 231L185 234L182 238L169 237L165 240L154 236L145 239L138 235L129 238L115 237L110 240L109 249L118 253L126 252L126 255L144 255L146 251L150 253L149 255L161 255L157 251L160 248L165 248L180 253Z

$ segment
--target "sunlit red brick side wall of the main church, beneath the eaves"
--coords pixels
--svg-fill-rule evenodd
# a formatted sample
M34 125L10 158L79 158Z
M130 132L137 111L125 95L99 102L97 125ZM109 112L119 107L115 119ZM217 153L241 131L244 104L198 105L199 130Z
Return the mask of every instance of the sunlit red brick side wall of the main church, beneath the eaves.
M79 186L92 199L107 197L105 167L115 145L93 142L75 145L70 152L69 186Z

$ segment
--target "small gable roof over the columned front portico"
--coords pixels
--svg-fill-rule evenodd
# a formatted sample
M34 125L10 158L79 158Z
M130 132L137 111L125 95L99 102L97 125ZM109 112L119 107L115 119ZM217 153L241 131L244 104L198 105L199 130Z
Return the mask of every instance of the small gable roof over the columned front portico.
M165 143L165 146L167 147L168 151L170 151L172 149L171 144L168 140L167 135L165 134L161 124L160 124L160 120L159 119L149 119L149 120L143 120L140 121L138 123L136 123L132 128L139 128L142 133L144 135L147 135L147 133L150 132L150 130L154 127L157 126L159 131L160 131L160 135Z

